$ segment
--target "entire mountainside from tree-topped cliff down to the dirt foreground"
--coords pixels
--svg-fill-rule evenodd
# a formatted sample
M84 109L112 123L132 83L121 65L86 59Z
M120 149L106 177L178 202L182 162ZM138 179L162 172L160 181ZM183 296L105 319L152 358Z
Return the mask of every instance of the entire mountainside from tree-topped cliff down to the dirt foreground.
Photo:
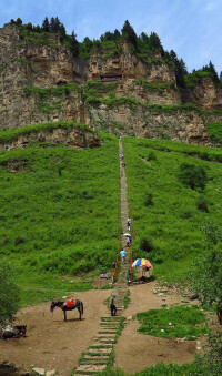
M78 42L58 18L11 20L0 45L0 374L218 376L212 62L189 73L129 21ZM3 339L10 322L27 337Z

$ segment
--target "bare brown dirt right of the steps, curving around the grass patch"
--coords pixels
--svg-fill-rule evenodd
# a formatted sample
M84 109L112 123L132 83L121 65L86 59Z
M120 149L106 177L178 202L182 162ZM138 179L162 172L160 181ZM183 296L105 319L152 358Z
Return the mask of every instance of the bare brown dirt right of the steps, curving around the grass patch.
M161 362L189 363L193 360L193 354L196 352L195 341L180 342L158 338L143 335L137 331L139 322L137 318L133 319L132 315L148 309L161 308L163 304L181 303L182 297L178 293L169 292L168 295L163 293L154 295L154 282L130 287L131 302L124 312L127 326L114 345L115 366L130 374Z

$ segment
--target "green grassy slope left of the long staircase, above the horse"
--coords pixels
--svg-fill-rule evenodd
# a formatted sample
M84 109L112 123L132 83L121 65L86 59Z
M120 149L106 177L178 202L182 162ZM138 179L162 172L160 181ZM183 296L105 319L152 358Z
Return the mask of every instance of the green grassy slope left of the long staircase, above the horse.
M1 258L14 267L22 305L91 288L115 260L118 141L102 138L93 150L0 154Z

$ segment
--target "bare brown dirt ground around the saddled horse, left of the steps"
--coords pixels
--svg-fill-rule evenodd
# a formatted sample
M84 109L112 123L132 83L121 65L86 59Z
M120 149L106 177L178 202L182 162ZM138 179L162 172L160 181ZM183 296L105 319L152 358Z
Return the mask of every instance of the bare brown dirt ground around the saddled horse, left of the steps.
M0 339L0 363L7 360L28 370L31 365L57 369L59 375L69 376L78 366L81 353L98 334L100 317L107 315L103 301L108 296L110 291L74 293L74 298L84 304L82 321L79 321L77 309L68 312L67 323L60 308L56 308L52 316L49 303L22 309L17 324L27 324L27 337Z

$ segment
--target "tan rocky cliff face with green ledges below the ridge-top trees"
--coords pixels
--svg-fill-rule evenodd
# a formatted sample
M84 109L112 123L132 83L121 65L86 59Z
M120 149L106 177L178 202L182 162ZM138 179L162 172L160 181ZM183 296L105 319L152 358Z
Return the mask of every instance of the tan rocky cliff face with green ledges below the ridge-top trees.
M137 136L210 144L199 112L155 112L142 106L193 102L204 110L222 109L221 92L209 77L180 92L173 68L161 55L144 61L124 44L119 55L97 53L83 61L73 58L57 35L33 42L10 26L0 29L0 48L1 129L75 121L112 131L119 124L115 132ZM113 102L98 105L92 98ZM115 99L122 99L122 105L115 105ZM141 105L128 105L125 99Z

